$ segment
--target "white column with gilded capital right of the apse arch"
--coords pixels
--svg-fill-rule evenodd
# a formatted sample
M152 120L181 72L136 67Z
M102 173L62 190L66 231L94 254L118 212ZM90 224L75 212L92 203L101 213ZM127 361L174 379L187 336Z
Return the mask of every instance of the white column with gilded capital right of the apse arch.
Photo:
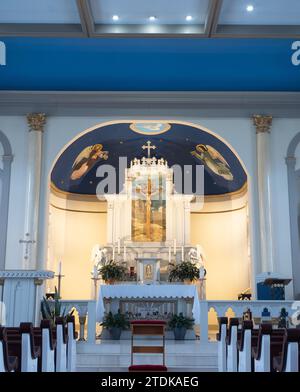
M253 116L257 143L257 181L260 223L261 272L273 272L273 236L271 208L271 116Z

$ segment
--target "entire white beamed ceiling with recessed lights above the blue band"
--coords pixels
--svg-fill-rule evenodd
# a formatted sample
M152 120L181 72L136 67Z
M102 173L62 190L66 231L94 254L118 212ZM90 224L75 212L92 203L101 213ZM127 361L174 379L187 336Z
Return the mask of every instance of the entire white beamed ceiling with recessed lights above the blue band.
M298 39L300 0L0 0L0 37L141 34Z

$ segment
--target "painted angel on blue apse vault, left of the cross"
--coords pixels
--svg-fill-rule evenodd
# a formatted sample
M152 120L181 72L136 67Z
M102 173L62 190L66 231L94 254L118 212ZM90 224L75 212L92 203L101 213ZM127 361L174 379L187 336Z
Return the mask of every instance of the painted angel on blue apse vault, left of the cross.
M103 151L102 144L88 146L75 159L72 166L71 180L78 180L99 161L99 159L108 159L108 151Z

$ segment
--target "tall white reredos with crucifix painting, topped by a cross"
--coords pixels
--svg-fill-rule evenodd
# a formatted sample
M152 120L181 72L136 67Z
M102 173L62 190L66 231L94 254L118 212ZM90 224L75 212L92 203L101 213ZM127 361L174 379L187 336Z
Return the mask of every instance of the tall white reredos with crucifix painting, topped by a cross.
M190 214L197 209L195 196L179 194L173 183L174 171L163 158L150 157L150 141L141 146L148 157L135 158L125 168L119 194L106 194L107 260L123 264L140 283L167 282L169 265L187 259L190 244ZM146 270L141 260L150 262ZM152 264L152 265L151 265ZM153 279L144 279L146 272ZM135 279L131 279L135 276ZM143 278L141 278L143 276Z

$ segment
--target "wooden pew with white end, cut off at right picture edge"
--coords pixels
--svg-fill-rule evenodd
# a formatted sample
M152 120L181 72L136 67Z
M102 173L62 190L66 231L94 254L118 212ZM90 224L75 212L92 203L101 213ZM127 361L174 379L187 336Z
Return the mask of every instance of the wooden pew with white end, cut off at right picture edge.
M300 330L286 329L280 355L273 357L273 370L276 372L300 371Z

